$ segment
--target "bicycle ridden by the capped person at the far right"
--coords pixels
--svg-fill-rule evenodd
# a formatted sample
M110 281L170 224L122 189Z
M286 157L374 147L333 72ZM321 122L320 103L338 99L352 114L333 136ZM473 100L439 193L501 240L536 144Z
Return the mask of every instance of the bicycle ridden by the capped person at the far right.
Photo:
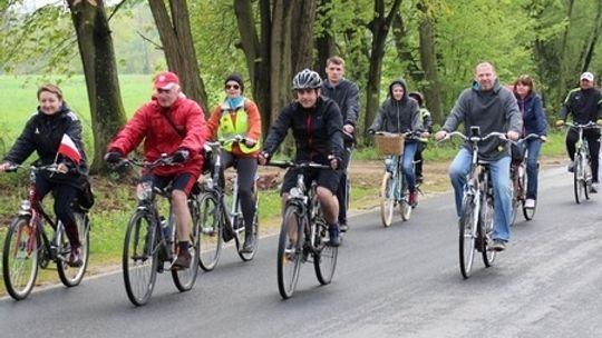
M573 190L575 192L575 202L579 205L583 198L590 199L590 189L592 188L592 168L590 167L590 146L583 140L583 130L600 129L595 122L585 125L565 123L570 128L576 128L579 133L575 143L575 156L573 167Z

